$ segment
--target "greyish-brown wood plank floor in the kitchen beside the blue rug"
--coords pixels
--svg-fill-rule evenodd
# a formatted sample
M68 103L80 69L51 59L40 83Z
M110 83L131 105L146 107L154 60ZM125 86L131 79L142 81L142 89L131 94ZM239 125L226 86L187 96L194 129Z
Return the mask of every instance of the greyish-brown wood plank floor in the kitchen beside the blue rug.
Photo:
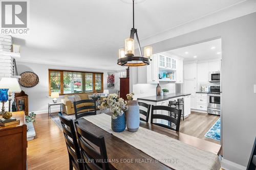
M217 115L191 111L191 114L184 118L184 121L181 119L180 132L220 144L217 140L204 137L205 133L219 118L220 116Z

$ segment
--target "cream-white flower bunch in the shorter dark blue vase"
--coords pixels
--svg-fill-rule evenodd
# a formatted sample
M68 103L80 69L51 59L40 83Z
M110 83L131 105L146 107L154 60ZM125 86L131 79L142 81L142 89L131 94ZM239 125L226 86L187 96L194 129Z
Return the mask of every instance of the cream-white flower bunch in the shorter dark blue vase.
M124 111L128 109L127 102L122 98L119 98L117 94L109 94L108 98L102 100L101 105L99 106L100 110L110 108L112 111L112 118L116 119L117 116L124 114Z

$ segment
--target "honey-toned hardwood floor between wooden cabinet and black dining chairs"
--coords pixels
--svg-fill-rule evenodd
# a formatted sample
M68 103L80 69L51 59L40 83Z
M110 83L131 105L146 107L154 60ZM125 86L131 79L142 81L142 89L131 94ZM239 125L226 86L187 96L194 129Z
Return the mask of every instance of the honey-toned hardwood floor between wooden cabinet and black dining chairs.
M63 132L48 114L36 115L36 138L28 141L28 169L69 169L69 158Z

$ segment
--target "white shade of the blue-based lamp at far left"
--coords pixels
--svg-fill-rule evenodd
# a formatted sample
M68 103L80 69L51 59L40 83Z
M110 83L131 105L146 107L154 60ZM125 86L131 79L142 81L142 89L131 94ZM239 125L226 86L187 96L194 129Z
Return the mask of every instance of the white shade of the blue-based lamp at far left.
M9 92L20 92L20 86L18 84L18 79L16 78L2 78L0 81L0 88L8 88Z

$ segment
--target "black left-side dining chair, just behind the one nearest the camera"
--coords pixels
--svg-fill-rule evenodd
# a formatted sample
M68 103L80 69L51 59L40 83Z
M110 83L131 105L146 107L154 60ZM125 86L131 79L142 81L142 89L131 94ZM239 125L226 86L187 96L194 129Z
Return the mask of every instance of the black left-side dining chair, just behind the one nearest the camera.
M80 149L76 138L75 126L72 119L67 119L59 113L59 119L66 141L69 154L69 169L82 170L83 164L77 160L81 160Z

